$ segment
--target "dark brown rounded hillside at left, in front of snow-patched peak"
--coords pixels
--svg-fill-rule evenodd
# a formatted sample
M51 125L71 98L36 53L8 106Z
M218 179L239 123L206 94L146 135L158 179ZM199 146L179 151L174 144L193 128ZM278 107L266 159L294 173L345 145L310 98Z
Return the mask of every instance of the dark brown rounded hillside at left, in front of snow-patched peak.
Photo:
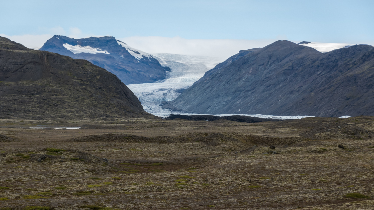
M116 75L0 37L0 118L156 118Z

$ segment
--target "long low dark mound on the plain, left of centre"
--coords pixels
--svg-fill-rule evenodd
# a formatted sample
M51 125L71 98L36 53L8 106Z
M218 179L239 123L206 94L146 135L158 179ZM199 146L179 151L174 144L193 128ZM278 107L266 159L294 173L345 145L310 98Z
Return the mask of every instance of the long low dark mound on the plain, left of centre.
M72 138L67 141L120 141L120 142L148 142L148 143L177 143L182 142L174 137L142 137L137 135L126 135L126 134L103 134L103 135L92 135L85 137Z

